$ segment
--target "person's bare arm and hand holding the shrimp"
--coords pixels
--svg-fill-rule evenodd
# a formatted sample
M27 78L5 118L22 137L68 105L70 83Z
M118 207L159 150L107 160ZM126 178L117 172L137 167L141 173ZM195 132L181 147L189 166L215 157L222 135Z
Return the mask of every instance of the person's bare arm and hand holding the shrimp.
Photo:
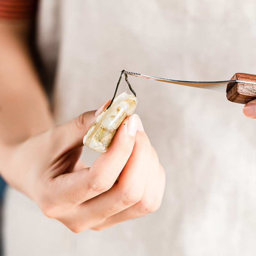
M29 21L0 21L4 180L73 232L101 230L156 211L165 173L139 116L124 120L108 151L91 167L81 162L83 136L109 102L56 126L30 58L29 28Z

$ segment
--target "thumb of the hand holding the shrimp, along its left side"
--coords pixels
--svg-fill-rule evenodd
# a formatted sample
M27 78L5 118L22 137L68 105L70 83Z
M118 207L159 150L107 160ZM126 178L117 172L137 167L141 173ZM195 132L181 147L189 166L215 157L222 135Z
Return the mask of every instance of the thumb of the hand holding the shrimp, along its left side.
M83 146L83 138L97 116L108 107L111 100L103 103L98 110L84 112L66 124L54 128L54 143L61 151Z

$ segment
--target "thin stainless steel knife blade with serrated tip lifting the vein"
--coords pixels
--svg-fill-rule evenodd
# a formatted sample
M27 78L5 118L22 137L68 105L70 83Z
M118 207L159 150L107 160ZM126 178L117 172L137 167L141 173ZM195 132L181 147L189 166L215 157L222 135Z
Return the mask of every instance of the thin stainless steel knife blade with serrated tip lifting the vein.
M211 82L181 81L181 80L160 78L156 76L147 76L147 75L142 75L139 73L133 73L129 71L125 71L124 73L131 76L138 76L142 78L147 78L147 79L171 83L171 84L181 84L181 85L192 86L196 88L203 88L203 89L213 90L213 91L222 92L222 93L226 93L228 83L235 84L239 82L239 83L246 83L246 84L256 84L255 82L242 81L242 80L225 80L225 81L211 81Z

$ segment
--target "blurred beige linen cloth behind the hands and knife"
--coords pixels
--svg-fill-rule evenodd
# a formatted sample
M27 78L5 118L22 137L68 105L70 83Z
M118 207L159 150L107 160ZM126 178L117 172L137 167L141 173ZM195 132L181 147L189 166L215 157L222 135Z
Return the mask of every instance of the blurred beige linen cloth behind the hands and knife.
M112 98L122 69L203 81L255 74L255 13L255 0L42 0L38 44L56 122ZM256 120L225 94L129 80L166 171L159 211L73 234L9 188L5 255L255 255ZM84 148L87 163L97 156Z

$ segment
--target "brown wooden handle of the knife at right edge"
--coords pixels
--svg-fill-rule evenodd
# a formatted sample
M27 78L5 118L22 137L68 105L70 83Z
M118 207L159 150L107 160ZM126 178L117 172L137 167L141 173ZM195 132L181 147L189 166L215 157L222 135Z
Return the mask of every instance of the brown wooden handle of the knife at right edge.
M236 73L230 80L242 80L256 83L256 75ZM246 104L256 99L256 84L231 82L227 85L227 98L236 103Z

